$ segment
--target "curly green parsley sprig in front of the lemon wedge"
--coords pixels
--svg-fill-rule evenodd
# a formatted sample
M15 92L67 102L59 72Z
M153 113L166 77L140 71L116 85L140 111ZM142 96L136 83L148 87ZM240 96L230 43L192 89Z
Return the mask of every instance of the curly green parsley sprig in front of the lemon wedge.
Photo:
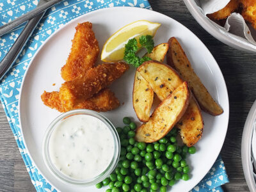
M147 49L148 53L152 52L152 50L154 49L154 40L153 36L151 35L140 36L139 42L141 47ZM138 49L139 47L136 38L130 39L125 45L124 61L131 65L134 65L134 67L139 67L143 62L151 60L147 56L144 56L143 58L136 56L136 52L138 51Z

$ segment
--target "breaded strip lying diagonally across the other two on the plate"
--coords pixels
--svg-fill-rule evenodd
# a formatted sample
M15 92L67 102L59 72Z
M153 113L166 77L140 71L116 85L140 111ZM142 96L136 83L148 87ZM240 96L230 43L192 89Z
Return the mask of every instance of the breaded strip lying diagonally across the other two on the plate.
M60 100L65 109L74 108L81 99L88 99L109 86L129 68L124 62L105 63L90 68L81 79L67 81L61 85Z

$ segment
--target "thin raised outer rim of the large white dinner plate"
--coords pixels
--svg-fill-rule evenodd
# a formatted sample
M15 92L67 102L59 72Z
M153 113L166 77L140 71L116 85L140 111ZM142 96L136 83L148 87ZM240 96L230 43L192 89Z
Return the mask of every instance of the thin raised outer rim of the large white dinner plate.
M95 14L95 13L97 13L97 12L105 12L105 11L108 11L108 10L113 10L113 12L115 12L115 10L134 10L134 9L136 9L136 10L143 10L143 11L146 11L146 12L147 12L147 11L148 11L148 12L154 12L154 13L156 13L156 14L159 14L159 15L163 16L163 17L166 17L166 19L174 20L175 22L177 22L177 23L179 23L180 25L182 25L184 28L188 29L188 28L187 28L186 26L184 26L182 23L180 23L179 21L173 19L172 17L169 17L168 15L164 15L163 13L159 13L159 12L156 12L156 11L154 11L154 10L149 10L149 9L146 9L146 8L129 7L129 6L115 6L115 7L109 7L109 8L100 8L99 10L93 10L92 12L88 12L88 13L85 13L84 15L80 15L79 17L76 17L76 18L74 18L74 19L68 21L66 24L64 24L63 26L61 26L58 30L54 31L54 33L52 33L52 34L44 41L44 43L43 43L42 45L40 45L40 47L38 48L38 50L37 50L37 51L35 52L35 54L33 55L33 58L31 59L31 61L29 61L29 65L28 65L28 68L26 69L26 72L24 73L24 77L23 77L23 79L22 79L22 84L21 84L21 86L20 86L20 92L19 92L19 104L18 104L18 108L19 108L19 124L20 124L20 134L21 134L21 136L22 136L22 141L23 141L23 143L24 143L24 147L25 147L26 150L27 150L27 154L28 154L29 158L31 159L31 162L35 165L35 167L36 167L37 170L39 170L39 168L38 168L37 164L35 163L33 157L31 156L31 154L30 154L30 152L29 152L29 150L28 150L28 146L27 146L27 144L26 144L26 140L24 139L24 134L23 134L23 129L22 129L22 120L21 120L21 118L20 118L20 116L21 116L21 115L20 115L20 111L21 111L21 110L20 110L20 100L22 99L22 90L23 90L23 87L24 87L24 81L25 81L26 76L27 76L27 74L28 74L29 68L31 67L31 65L32 65L32 63L33 63L33 61L34 61L34 59L36 58L36 56L37 56L37 54L38 54L38 52L40 52L40 50L44 47L44 45L45 45L49 40L51 40L51 38L52 38L53 36L55 36L57 33L59 33L59 32L61 31L61 29L67 27L69 24L71 24L72 22L74 22L74 21L76 21L76 20L79 20L79 19L82 18L82 17L86 17L87 15ZM228 92L227 92L227 84L225 83L225 79L224 79L223 74L222 74L222 72L221 72L220 66L218 65L218 63L217 63L217 61L215 60L214 56L212 56L211 51L209 51L209 49L205 46L204 42L202 42L202 40L200 40L200 38L198 38L198 36L196 36L195 33L193 33L190 29L188 29L188 31L189 31L190 33L192 33L192 34L195 36L195 38L196 38L197 40L199 40L199 41L202 43L202 45L204 46L204 48L209 52L210 56L212 57L212 60L216 63L216 70L218 70L218 72L220 72L221 81L224 82L224 84L223 84L223 93L227 96L227 97L225 98L225 99L227 99L227 109L225 109L225 111L226 111L225 113L227 113L227 120L226 120L225 124L223 124L223 127L227 127L227 128L225 128L225 129L226 129L225 135L223 135L223 139L220 141L220 143L222 143L222 145L221 145L220 148L218 149L218 155L217 155L216 157L212 158L213 160L212 160L211 166L209 166L209 168L207 168L207 171L206 171L205 174L204 174L204 177L205 177L205 175L207 174L207 172L209 172L209 170L211 169L211 167L212 167L213 164L215 163L216 159L217 159L218 156L220 155L221 148L223 147L223 144L224 144L224 141L225 141L225 138L226 138L226 135L227 135L228 121L229 121L229 99L228 99ZM215 65L215 64L214 64L214 65ZM224 86L224 85L225 85L225 86ZM205 169L205 170L206 170L206 169ZM39 170L39 171L40 171L40 170ZM51 182L50 180L46 179L45 175L44 175L42 172L41 172L40 174L44 177L45 180L47 180L47 182L48 182L49 184L51 184L52 187L54 187L55 189L57 189L58 191L60 191L58 188L56 188L56 186L55 186L54 184L52 184L52 182ZM202 179L204 179L204 177L202 177ZM196 186L202 179L198 180L198 182L196 182L195 186ZM195 186L193 186L193 188L194 188ZM191 188L191 189L193 189L193 188ZM189 189L189 190L191 190L191 189Z

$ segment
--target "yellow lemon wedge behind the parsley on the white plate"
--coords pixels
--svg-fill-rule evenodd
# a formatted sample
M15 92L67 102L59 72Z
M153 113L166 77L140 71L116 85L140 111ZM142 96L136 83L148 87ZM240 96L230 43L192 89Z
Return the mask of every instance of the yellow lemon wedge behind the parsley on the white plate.
M160 26L161 24L149 22L148 20L138 20L127 24L127 26L119 29L108 38L103 45L101 60L105 62L123 60L125 44L127 44L129 39L136 38L138 40L142 35L154 36Z

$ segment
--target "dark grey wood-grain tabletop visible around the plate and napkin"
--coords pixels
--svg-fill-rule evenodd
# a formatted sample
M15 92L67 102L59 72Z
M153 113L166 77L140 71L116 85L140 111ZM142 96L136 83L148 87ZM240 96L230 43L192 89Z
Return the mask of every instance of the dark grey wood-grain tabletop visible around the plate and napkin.
M227 138L221 150L230 183L225 191L249 191L241 163L243 125L256 96L256 56L216 40L197 22L182 0L148 0L153 10L168 15L189 28L204 42L220 65L230 99ZM12 131L0 107L0 191L35 191Z

